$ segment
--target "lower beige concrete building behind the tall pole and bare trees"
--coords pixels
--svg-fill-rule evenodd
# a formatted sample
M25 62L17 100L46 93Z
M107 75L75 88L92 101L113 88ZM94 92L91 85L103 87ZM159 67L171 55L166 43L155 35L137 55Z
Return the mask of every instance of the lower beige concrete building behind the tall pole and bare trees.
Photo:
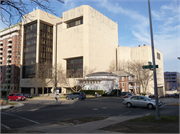
M164 88L164 66L163 66L163 54L156 48L155 51L155 63L158 65L157 70L157 87L159 95L165 94ZM143 46L138 47L121 47L117 48L117 64L123 64L123 62L133 62L139 61L144 63L144 65L148 65L148 62L152 63L152 49L151 46ZM123 66L121 66L123 68ZM126 70L128 71L128 70ZM150 72L151 73L151 72ZM136 77L136 76L135 76ZM140 87L142 88L142 87ZM151 80L147 87L147 93L154 94L154 81Z

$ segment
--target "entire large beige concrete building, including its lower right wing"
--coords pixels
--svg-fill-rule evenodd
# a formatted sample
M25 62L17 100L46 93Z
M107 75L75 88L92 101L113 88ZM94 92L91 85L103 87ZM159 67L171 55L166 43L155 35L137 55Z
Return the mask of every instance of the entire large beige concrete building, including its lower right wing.
M63 12L57 17L37 9L22 19L20 92L41 94L41 84L31 81L37 74L33 71L37 63L48 62L62 66L66 77L83 77L83 68L106 72L111 62L119 60L152 61L151 47L118 47L118 25L88 5ZM156 63L162 69L163 55L155 50ZM50 70L51 71L51 70ZM78 72L77 76L74 76ZM160 82L159 88L164 82ZM152 83L151 83L152 86ZM46 88L56 87L49 83ZM63 93L70 87L57 83ZM150 87L150 86L149 86ZM154 93L153 88L149 88ZM162 89L163 90L163 89Z

